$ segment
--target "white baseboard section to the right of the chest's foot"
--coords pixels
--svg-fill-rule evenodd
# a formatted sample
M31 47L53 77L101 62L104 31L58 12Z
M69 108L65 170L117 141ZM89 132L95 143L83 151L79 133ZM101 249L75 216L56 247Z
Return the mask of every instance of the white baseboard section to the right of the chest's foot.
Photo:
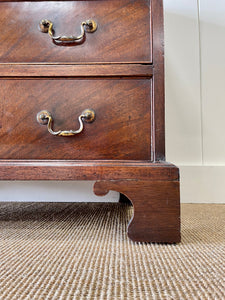
M179 166L182 203L225 203L225 166Z

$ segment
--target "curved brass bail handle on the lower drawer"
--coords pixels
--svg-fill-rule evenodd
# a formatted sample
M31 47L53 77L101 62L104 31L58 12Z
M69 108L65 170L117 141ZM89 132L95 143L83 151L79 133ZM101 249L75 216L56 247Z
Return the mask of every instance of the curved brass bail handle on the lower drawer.
M80 128L77 130L59 130L54 131L53 130L53 118L51 113L49 113L47 110L42 110L37 114L37 121L41 125L47 125L48 131L52 135L58 135L58 136L72 136L75 134L80 133L83 128L84 124L82 121L85 121L87 123L91 123L95 120L95 112L92 109L85 109L82 114L78 117Z

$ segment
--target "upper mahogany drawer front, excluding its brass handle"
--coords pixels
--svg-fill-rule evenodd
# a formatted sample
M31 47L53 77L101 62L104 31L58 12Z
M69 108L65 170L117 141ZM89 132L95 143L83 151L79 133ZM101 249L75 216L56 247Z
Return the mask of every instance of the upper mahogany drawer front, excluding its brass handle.
M0 2L0 62L151 62L149 2ZM42 19L55 35L79 35L87 19L98 28L82 44L58 46L38 29Z

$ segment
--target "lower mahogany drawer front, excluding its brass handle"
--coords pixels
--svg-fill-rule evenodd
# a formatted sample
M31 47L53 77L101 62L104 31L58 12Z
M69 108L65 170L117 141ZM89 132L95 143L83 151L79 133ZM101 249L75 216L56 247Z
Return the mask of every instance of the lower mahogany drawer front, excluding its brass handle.
M150 79L5 79L0 101L1 159L151 158ZM36 120L47 110L54 130L75 130L87 108L96 120L72 137Z

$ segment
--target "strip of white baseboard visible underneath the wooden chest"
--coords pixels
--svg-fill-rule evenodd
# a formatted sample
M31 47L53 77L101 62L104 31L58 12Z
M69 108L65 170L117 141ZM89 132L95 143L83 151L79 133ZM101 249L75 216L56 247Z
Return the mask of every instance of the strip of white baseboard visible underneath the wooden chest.
M119 193L93 193L94 181L0 181L0 202L118 202Z

